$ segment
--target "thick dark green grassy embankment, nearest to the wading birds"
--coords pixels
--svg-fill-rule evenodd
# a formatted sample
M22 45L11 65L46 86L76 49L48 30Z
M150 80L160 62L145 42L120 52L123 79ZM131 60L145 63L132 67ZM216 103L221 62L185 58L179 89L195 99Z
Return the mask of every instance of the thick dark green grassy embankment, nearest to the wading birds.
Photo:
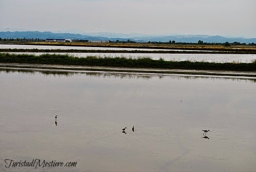
M72 65L72 66L100 66L120 68L155 68L155 69L186 69L212 71L256 71L256 60L251 63L215 63L191 61L164 61L151 58L124 58L89 56L78 58L69 55L43 54L40 56L28 54L0 53L1 63L27 63L41 65Z

